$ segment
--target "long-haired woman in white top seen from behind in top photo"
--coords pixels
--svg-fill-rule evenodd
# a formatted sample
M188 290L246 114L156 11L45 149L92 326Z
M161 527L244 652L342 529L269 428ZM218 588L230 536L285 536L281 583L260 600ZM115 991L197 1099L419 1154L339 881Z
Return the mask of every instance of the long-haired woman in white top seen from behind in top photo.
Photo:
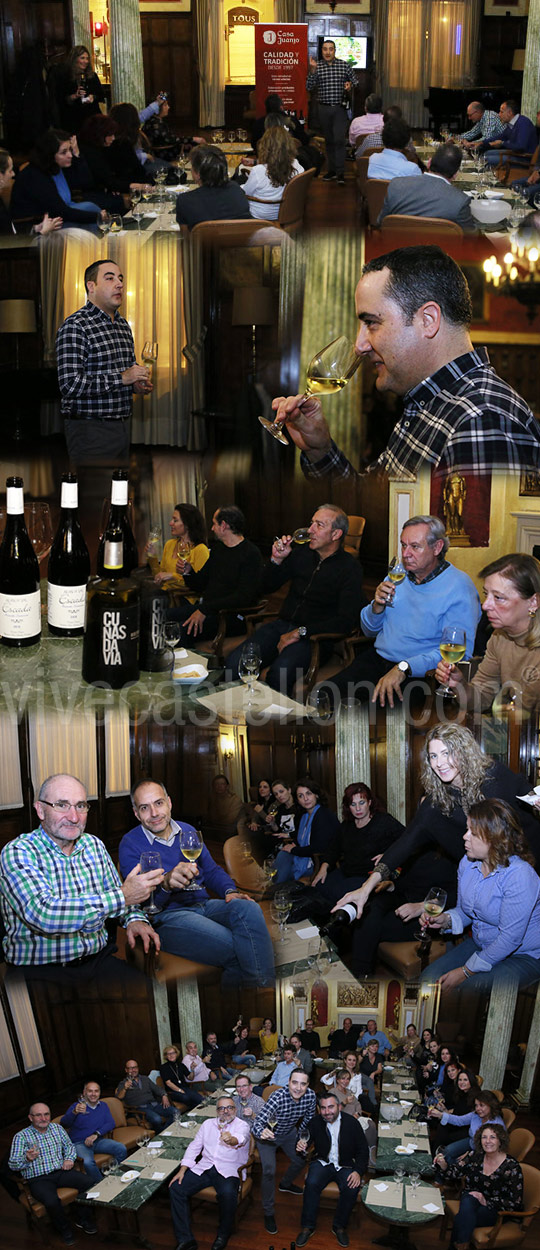
M295 158L296 142L286 126L269 126L258 142L258 164L244 182L252 218L276 221L284 190L304 170Z

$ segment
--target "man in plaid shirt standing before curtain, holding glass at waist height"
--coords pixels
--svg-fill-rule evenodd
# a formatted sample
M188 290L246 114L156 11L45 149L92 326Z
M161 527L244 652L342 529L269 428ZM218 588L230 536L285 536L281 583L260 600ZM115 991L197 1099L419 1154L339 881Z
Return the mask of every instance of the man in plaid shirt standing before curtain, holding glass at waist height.
M131 329L119 314L124 275L95 260L84 275L88 302L56 335L56 360L68 451L74 464L126 461L132 394L152 390L135 360Z

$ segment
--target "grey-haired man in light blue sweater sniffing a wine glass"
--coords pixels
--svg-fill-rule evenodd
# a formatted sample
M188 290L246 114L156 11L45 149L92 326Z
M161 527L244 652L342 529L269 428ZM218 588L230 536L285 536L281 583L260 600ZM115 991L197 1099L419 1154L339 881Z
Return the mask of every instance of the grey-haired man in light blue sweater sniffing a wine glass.
M360 614L364 634L372 638L349 668L328 689L338 698L402 700L406 678L424 678L440 659L445 626L465 630L465 659L474 651L480 619L480 599L466 572L445 559L449 540L438 516L412 516L401 530L401 562L405 578L398 585L389 579L376 588L374 599Z

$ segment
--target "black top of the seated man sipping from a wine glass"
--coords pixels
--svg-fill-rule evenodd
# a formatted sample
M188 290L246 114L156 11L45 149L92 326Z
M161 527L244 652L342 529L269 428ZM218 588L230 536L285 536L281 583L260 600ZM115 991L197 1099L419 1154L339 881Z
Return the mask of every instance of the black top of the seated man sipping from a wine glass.
M360 624L362 570L341 548L321 560L310 548L296 546L282 564L265 566L262 591L278 590L286 581L282 620L305 625L308 634L350 634Z

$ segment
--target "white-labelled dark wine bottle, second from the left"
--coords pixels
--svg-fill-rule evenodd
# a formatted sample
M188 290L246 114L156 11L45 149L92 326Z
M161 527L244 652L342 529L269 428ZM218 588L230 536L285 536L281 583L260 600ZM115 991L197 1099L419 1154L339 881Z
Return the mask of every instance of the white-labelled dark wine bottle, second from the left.
M60 524L49 556L49 632L59 638L84 634L90 556L78 518L76 474L62 476Z

